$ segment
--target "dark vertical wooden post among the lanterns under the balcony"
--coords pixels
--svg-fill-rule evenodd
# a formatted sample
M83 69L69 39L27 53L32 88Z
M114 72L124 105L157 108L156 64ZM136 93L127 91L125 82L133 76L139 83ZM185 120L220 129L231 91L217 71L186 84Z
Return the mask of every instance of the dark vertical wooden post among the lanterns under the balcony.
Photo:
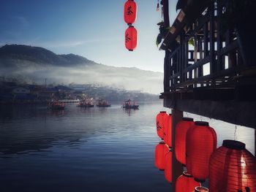
M182 120L183 112L179 110L172 110L172 175L173 175L173 192L176 189L176 179L183 173L183 166L179 163L175 156L175 129L178 121Z

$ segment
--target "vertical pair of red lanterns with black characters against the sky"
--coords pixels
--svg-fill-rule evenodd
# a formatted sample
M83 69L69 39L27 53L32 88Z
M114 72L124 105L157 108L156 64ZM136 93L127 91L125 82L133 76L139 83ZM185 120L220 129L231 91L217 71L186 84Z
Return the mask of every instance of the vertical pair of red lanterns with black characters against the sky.
M137 4L134 0L127 0L124 4L124 21L128 28L124 34L124 42L127 50L132 51L137 47L138 31L132 23L135 23L137 18Z

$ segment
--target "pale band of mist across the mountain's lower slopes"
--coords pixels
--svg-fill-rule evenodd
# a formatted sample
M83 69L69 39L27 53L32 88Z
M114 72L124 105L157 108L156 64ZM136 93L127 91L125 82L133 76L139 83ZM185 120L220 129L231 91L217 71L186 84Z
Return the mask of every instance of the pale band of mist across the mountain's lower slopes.
M0 76L14 77L20 82L44 84L100 84L130 91L159 94L162 92L161 72L143 71L137 68L113 67L102 64L80 66L52 66L29 61L15 61L15 67L0 61Z

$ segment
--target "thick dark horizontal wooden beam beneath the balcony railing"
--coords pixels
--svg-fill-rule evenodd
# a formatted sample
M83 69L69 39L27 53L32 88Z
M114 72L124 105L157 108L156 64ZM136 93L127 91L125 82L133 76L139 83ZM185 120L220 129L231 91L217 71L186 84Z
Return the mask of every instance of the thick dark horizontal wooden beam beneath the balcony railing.
M227 123L256 128L256 101L170 99L164 96L164 106L176 107L177 110L223 120Z

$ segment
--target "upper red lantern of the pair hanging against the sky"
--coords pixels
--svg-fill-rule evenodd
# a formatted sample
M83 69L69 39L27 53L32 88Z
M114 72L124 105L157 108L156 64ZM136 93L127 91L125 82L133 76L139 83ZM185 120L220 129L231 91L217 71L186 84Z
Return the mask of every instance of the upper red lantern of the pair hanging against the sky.
M124 4L124 21L131 25L135 23L137 17L137 4L133 0L128 0Z

